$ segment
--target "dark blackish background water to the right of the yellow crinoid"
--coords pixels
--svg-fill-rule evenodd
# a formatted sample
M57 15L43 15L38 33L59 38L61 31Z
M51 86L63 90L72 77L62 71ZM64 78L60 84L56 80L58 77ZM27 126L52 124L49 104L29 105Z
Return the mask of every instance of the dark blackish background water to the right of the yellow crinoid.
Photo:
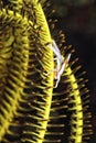
M58 20L56 29L63 30L66 43L72 44L89 79L90 111L94 134L88 143L96 143L96 1L51 0Z

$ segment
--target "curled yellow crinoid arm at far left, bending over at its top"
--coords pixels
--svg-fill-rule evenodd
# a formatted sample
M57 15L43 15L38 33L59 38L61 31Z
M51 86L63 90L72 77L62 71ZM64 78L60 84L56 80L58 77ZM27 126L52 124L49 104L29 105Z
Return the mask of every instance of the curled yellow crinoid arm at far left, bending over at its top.
M28 21L0 10L0 142L13 120L25 86L29 63Z

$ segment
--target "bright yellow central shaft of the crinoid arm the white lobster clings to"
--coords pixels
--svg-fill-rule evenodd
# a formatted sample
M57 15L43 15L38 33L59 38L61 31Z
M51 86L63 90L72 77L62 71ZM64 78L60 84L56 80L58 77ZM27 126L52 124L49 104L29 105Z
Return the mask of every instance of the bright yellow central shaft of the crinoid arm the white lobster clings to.
M32 0L32 1L30 0L28 3L30 3L30 6L32 4L32 8L33 8L30 10L30 13L28 13L28 16L30 15L30 20L32 20L32 16L33 16L33 21L35 21L35 23L33 23L34 24L33 28L34 28L34 31L39 33L36 43L40 43L40 44L38 47L35 47L35 51L38 51L38 55L40 53L43 54L42 58L39 58L39 56L36 56L38 62L43 67L43 69L40 69L40 72L38 70L40 76L42 77L42 81L40 84L34 81L33 84L33 87L36 88L35 95L40 92L39 95L44 100L44 101L40 100L41 103L39 103L40 109L43 109L42 110L43 114L42 113L40 114L41 118L38 119L38 122L40 125L38 125L35 128L36 130L34 131L34 132L38 131L38 133L34 134L38 138L34 138L32 141L34 143L42 143L45 135L46 127L47 127L51 102L52 102L52 94L53 94L53 78L54 78L53 76L54 75L53 73L51 73L49 76L46 76L47 73L52 70L54 67L53 52L46 46L47 43L51 43L51 33L50 33L49 25L47 25L47 22L46 22L46 19L45 19L45 15L44 15L44 12L42 10L40 2L38 2L36 0ZM32 11L34 12L33 15L31 15ZM35 66L35 63L34 63L34 66ZM33 76L32 78L35 78L35 76ZM41 94L38 87L41 90L42 84L43 84L43 92ZM39 102L39 100L36 102ZM40 128L43 130L40 130ZM31 133L28 131L28 134L31 134ZM29 142L31 142L31 140Z

